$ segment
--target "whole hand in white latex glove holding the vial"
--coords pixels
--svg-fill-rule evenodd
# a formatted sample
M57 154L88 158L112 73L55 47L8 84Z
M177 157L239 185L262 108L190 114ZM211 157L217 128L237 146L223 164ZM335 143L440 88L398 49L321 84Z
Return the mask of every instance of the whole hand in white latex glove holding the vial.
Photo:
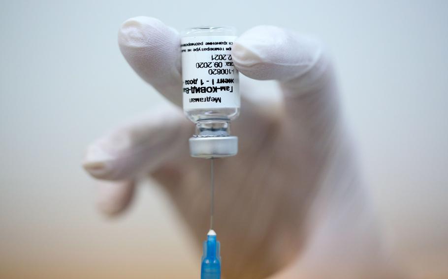
M136 17L123 24L118 42L135 72L181 107L178 32L157 19ZM259 26L237 38L232 57L241 74L278 80L283 102L255 105L244 93L256 85L241 81L241 115L231 124L239 153L215 160L215 230L224 277L386 278L321 44ZM124 210L136 179L149 174L169 193L200 245L209 225L210 162L189 156L193 127L172 106L90 145L83 166L101 180L100 210Z

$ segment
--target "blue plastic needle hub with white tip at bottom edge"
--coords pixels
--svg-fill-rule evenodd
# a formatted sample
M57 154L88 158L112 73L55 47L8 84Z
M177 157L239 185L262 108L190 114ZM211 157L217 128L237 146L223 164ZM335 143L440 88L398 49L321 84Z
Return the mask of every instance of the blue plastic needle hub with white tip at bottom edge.
M220 242L212 229L203 245L201 279L221 279Z

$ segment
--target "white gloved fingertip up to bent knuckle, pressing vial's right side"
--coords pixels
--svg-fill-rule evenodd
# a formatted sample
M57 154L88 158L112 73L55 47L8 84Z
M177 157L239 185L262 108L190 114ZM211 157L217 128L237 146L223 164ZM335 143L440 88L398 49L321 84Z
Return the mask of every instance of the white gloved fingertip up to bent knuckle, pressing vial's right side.
M232 58L245 76L297 84L302 92L320 87L330 70L318 39L274 26L258 26L243 33L233 45Z

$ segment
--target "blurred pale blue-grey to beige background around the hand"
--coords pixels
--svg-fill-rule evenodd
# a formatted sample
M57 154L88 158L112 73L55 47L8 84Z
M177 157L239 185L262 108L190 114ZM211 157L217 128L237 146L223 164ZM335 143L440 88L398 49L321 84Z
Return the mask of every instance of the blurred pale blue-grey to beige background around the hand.
M117 46L138 15L319 35L394 256L448 278L447 14L444 0L1 1L0 278L198 278L164 193L146 182L107 220L80 167L89 142L165 102Z

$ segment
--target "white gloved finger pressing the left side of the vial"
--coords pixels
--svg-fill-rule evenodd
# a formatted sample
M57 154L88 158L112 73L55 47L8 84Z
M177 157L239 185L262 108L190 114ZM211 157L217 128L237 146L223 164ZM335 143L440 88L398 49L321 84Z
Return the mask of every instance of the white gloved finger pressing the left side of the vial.
M130 18L118 32L118 44L143 80L182 106L180 36L175 29L155 18Z

